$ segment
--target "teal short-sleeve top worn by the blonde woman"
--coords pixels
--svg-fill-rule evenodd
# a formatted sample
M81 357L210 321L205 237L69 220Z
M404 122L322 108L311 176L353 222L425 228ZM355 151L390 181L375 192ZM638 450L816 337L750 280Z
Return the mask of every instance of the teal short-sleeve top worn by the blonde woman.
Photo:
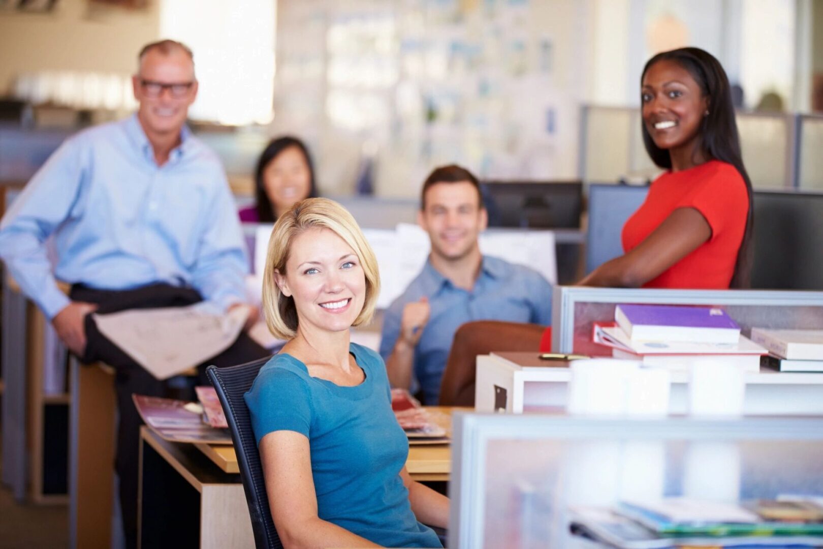
M320 519L385 547L442 547L417 522L400 471L408 440L392 412L386 366L351 343L365 374L354 387L314 378L288 354L272 357L245 394L258 444L276 430L309 439Z

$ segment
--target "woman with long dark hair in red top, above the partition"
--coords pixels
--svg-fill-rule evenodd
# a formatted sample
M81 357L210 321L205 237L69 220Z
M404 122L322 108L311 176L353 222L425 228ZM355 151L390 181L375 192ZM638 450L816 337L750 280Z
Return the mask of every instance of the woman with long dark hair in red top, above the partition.
M723 67L702 49L674 49L646 63L641 86L646 151L667 171L626 221L625 254L579 284L748 287L751 180Z

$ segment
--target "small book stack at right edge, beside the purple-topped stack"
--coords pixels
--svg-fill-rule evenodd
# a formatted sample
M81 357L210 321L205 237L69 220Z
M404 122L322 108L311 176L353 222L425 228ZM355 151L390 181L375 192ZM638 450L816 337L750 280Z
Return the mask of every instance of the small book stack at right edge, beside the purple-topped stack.
M767 365L781 372L823 372L823 330L751 328L751 340L769 350Z

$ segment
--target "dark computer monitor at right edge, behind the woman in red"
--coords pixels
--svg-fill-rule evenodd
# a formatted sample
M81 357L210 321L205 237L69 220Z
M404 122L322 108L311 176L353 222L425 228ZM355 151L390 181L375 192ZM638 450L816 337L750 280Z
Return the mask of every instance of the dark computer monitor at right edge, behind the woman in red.
M823 193L757 191L751 287L823 290Z

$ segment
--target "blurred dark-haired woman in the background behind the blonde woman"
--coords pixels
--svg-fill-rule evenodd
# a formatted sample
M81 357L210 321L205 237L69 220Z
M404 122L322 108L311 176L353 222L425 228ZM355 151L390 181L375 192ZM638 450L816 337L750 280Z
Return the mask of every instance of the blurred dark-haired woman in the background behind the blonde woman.
M295 203L317 196L309 149L291 136L272 139L254 170L257 204L240 210L244 223L273 223Z

